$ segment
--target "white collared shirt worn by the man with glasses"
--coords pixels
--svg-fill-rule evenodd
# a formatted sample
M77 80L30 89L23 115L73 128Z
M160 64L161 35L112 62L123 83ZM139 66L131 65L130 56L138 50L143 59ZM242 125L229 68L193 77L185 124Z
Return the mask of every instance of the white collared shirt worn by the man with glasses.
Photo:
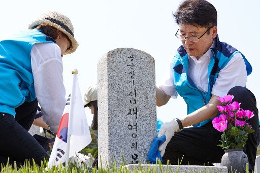
M211 47L215 47L215 41ZM212 52L209 49L199 60L196 57L188 55L188 76L194 85L203 92L208 91L208 65ZM219 71L216 82L213 85L211 93L223 97L234 86L245 86L247 81L246 65L241 53L236 53L224 68ZM178 93L174 86L173 62L170 60L169 70L160 81L158 86L167 95L177 98Z

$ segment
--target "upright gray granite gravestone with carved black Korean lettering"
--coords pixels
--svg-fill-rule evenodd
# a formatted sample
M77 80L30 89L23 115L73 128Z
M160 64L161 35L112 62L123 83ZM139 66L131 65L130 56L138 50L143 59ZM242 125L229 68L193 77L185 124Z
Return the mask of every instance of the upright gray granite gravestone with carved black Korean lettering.
M151 55L118 48L98 62L99 166L147 163L156 136L155 65Z

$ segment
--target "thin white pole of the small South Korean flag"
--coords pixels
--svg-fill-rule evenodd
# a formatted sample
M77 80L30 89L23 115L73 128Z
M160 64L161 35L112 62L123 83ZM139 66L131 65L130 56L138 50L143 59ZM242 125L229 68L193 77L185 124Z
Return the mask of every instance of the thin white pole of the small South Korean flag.
M78 77L78 70L75 69L72 71L73 74L73 84L72 84L72 93L71 93L71 107L70 107L70 114L69 114L69 122L68 122L68 137L67 137L67 149L66 149L66 158L65 163L66 166L69 166L69 155L70 155L70 142L71 142L71 135L72 135L72 121L73 121L73 109L74 109L74 98L75 98L75 80Z

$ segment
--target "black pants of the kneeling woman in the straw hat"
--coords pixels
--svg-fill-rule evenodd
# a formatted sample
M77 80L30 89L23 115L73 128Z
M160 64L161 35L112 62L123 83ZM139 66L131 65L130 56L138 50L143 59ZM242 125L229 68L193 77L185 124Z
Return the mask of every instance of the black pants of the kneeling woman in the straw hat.
M49 155L35 138L28 132L32 122L34 122L38 107L38 101L24 102L15 109L14 116L0 113L0 165L6 164L9 159L10 164L23 165L26 159L32 163L41 165L44 158Z

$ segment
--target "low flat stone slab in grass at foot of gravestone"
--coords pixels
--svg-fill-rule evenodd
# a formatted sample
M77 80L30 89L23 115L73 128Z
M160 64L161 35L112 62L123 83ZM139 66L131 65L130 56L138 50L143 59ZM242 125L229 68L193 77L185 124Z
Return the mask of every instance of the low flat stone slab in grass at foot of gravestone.
M228 168L225 166L196 166L196 165L156 165L156 164L128 164L125 168L133 172L140 170L142 172L218 172L228 173Z

